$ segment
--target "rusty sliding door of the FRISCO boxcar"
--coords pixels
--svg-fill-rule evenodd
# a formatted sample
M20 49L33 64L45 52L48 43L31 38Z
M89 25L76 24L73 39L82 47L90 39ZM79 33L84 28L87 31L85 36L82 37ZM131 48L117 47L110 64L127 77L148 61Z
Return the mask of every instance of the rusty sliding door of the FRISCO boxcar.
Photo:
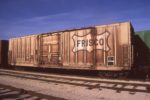
M46 67L59 65L59 34L42 34L39 44L39 63Z

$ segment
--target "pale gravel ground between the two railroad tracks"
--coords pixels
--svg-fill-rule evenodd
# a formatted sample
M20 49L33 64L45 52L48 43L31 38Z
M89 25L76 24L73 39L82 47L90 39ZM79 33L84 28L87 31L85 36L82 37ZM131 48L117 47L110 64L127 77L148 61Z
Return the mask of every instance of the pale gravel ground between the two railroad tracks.
M62 80L63 81L63 80ZM121 89L109 88L88 88L84 86L76 86L71 84L44 82L40 80L24 79L13 76L0 75L0 84L12 86L26 91L34 91L35 93L44 94L57 99L66 100L149 100L149 92L124 91ZM86 83L91 84L91 83ZM94 83L93 83L94 84ZM99 83L100 86L111 87L112 84ZM114 85L114 84L113 84ZM116 85L122 88L121 85ZM127 86L126 88L133 88ZM136 87L141 88L143 87ZM2 91L0 91L0 97ZM34 96L32 96L34 97ZM30 99L29 100L34 100ZM35 99L36 100L36 99Z

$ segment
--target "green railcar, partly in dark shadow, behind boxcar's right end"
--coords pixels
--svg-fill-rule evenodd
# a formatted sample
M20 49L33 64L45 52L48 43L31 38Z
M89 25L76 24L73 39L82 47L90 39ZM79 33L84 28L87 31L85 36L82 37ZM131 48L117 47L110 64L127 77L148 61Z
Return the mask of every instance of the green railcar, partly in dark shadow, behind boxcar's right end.
M135 66L138 67L136 69L150 75L150 31L136 32L134 46L134 61Z

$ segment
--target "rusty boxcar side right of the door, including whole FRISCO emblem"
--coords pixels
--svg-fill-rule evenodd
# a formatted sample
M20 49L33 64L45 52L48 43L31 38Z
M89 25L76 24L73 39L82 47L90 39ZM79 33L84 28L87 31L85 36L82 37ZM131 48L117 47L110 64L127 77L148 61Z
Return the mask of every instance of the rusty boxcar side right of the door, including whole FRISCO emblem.
M66 31L61 35L63 61L71 68L130 70L131 26L129 22Z

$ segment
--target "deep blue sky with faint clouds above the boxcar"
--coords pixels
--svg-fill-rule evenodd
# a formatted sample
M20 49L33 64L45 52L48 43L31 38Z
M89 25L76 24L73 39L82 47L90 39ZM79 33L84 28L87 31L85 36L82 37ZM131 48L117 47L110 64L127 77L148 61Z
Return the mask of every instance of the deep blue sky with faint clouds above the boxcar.
M150 0L0 0L0 39L124 21L150 30Z

